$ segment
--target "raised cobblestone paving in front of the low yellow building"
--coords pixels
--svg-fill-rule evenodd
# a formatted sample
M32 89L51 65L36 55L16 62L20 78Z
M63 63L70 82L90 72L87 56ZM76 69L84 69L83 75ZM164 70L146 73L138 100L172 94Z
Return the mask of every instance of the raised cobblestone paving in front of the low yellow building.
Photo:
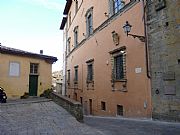
M104 135L104 133L79 123L53 101L30 99L0 104L0 135Z

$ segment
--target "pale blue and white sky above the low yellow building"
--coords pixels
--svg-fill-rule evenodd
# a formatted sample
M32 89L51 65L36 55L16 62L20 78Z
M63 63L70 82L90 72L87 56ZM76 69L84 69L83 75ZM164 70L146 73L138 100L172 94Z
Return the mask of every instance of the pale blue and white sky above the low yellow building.
M63 32L59 30L66 0L0 0L3 46L58 57L62 69Z

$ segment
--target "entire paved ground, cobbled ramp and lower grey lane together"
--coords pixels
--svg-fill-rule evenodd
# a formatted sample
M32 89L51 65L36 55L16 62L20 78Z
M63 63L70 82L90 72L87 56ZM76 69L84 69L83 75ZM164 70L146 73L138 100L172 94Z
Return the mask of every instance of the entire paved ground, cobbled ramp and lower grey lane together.
M85 116L78 122L49 99L0 104L0 135L180 135L180 123Z

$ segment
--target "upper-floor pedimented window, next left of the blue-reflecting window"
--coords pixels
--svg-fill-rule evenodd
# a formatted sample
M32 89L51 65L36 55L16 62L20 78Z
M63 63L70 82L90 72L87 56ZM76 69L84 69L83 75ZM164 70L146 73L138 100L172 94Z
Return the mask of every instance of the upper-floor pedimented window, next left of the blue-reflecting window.
M86 12L86 34L90 36L93 33L93 7Z

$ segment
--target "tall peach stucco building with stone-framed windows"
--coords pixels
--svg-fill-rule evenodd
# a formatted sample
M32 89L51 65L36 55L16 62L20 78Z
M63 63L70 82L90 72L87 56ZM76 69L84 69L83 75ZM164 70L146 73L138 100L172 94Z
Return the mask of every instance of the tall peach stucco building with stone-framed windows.
M139 0L67 0L60 29L65 33L66 95L84 113L151 117L146 46L124 33L144 35Z

